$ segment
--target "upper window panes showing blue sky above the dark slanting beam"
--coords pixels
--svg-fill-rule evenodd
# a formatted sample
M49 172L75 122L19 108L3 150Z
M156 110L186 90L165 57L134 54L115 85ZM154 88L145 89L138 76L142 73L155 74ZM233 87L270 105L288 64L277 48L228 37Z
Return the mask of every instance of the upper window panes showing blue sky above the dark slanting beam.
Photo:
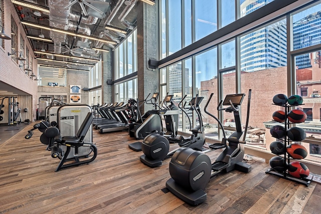
M159 2L161 20L159 54L163 59L273 0L160 0Z

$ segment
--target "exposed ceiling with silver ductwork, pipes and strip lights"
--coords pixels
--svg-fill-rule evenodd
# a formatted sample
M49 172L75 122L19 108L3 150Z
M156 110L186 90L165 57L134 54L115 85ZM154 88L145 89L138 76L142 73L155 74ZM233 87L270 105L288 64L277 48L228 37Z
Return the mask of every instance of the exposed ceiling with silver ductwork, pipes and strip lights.
M29 39L34 47L34 51L37 52L35 53L37 58L75 62L75 59L70 57L58 58L61 55L77 56L84 58L83 62L88 61L90 63L90 59L99 60L101 55L99 50L94 50L93 48L103 48L105 44L105 48L114 49L116 44L119 44L126 38L126 33L130 33L136 27L133 23L136 23L135 4L137 1L82 0L79 2L79 0L25 0L25 2L30 2L33 5L47 8L49 12L39 12L34 8L21 7L19 4L17 4L16 9L22 21L62 30L61 32L56 30L48 31L46 28L32 25L25 27L27 35L33 37L29 37ZM125 2L127 4L124 4ZM84 7L81 7L81 3L86 4L83 4ZM88 16L85 16L85 12ZM100 12L103 12L103 14ZM118 19L115 19L115 17ZM105 29L106 26L115 27L120 32L114 29L107 30ZM72 36L63 31L72 32L76 35ZM39 35L42 36L40 37ZM91 38L97 39L92 40ZM47 41L40 39L46 39ZM108 41L113 42L113 44L108 43ZM59 56L55 55L53 57L50 54L59 54ZM77 61L79 60L77 59ZM92 61L91 63L95 62ZM53 63L51 62L51 64Z

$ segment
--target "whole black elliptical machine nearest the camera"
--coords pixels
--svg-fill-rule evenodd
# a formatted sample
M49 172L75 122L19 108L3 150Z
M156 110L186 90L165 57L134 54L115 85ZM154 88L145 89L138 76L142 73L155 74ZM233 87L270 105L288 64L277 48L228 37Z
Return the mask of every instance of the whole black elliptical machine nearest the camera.
M213 94L211 94L211 97L212 96ZM223 106L229 105L229 107L220 108L222 101L218 106L219 110L234 113L236 131L227 139L223 138L222 145L217 144L213 147L213 149L225 147L214 163L211 163L209 156L205 153L190 148L180 148L174 153L169 166L172 178L166 182L166 187L187 203L197 205L204 202L207 198L207 194L204 191L205 187L210 178L218 173L229 172L233 169L246 173L251 171L251 166L242 162L249 119L251 89L249 90L248 95L247 119L243 133L239 106L241 105L244 96L245 94L227 95L223 102ZM214 117L213 115L211 116ZM242 135L243 139L240 140ZM226 142L228 142L228 145Z

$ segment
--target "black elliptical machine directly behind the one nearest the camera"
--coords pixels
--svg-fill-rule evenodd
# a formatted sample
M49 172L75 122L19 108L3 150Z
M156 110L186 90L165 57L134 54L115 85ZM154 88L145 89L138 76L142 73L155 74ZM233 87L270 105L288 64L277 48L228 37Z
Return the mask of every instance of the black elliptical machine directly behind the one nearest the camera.
M187 112L184 110L185 107L181 107L182 102L185 100L186 96L179 103L179 108L186 114ZM167 97L165 98L167 100ZM181 138L177 139L178 144L181 147L189 147L192 149L202 150L202 146L205 142L205 134L203 121L200 113L200 103L202 102L203 97L194 97L190 101L190 109L195 110L200 120L200 125L196 126L194 129L190 129L192 131L192 135L189 138ZM185 103L186 104L186 103ZM184 105L185 106L185 105ZM177 110L176 110L177 111ZM172 114L173 115L173 114ZM175 130L175 121L172 122L173 129ZM190 121L191 125L191 121ZM179 147L180 148L180 147ZM163 160L171 157L179 148L170 150L169 139L165 137L162 133L151 133L147 135L142 144L141 149L143 151L143 155L139 157L140 161L147 166L155 167L162 164Z

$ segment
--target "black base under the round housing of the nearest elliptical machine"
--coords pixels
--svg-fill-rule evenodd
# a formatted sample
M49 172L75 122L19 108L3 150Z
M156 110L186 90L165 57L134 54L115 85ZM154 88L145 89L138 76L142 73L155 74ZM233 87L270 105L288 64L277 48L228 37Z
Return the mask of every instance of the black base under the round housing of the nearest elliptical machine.
M173 178L170 178L168 181L166 181L166 187L177 197L191 205L203 203L207 198L207 194L203 189L189 191L178 185Z

